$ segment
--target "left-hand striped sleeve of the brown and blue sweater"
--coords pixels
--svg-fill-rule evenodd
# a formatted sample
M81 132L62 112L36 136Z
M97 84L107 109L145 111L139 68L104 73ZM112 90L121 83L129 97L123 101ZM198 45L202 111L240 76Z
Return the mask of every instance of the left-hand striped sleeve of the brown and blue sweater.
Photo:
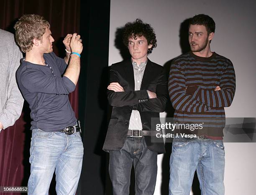
M168 90L172 106L175 110L186 112L206 112L208 106L195 99L195 96L200 88L195 91L195 94L188 95L186 93L186 81L184 67L173 63L170 68Z

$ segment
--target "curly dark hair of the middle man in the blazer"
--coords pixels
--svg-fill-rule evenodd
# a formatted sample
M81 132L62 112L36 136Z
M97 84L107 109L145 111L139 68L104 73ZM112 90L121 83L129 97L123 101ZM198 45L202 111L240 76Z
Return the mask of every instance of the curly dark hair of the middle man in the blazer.
M144 36L148 41L148 45L152 47L148 49L150 54L153 48L156 47L156 34L154 28L150 24L143 23L141 19L136 19L133 23L126 23L123 32L123 44L127 47L129 38L135 39L136 37Z

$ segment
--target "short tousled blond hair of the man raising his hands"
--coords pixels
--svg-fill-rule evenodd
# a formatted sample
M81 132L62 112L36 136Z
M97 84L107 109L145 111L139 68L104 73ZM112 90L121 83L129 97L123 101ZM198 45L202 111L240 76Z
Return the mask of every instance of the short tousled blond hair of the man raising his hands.
M28 52L33 47L33 39L41 40L46 28L50 28L50 24L44 17L35 14L25 14L20 17L14 25L15 36L20 49Z

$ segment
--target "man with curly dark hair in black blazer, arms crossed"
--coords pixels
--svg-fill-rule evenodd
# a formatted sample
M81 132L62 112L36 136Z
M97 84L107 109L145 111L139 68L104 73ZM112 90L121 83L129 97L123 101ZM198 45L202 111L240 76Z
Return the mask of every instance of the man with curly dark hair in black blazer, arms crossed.
M131 60L115 63L110 70L108 101L113 106L103 150L109 151L109 174L114 195L128 195L134 166L136 195L153 195L156 185L157 154L164 143L154 142L159 133L151 118L160 123L168 100L164 68L147 55L156 47L151 25L137 19L124 28L123 43ZM152 138L152 139L151 139Z

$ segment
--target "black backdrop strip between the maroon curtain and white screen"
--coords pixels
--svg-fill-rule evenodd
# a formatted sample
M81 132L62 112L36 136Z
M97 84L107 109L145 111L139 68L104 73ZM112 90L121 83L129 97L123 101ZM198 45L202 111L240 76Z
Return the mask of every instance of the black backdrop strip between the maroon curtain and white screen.
M77 195L104 195L108 153L102 151L108 123L108 47L110 0L81 1L80 34L84 37L79 79L79 118L84 159ZM111 188L111 187L110 187ZM107 192L106 192L107 193Z

